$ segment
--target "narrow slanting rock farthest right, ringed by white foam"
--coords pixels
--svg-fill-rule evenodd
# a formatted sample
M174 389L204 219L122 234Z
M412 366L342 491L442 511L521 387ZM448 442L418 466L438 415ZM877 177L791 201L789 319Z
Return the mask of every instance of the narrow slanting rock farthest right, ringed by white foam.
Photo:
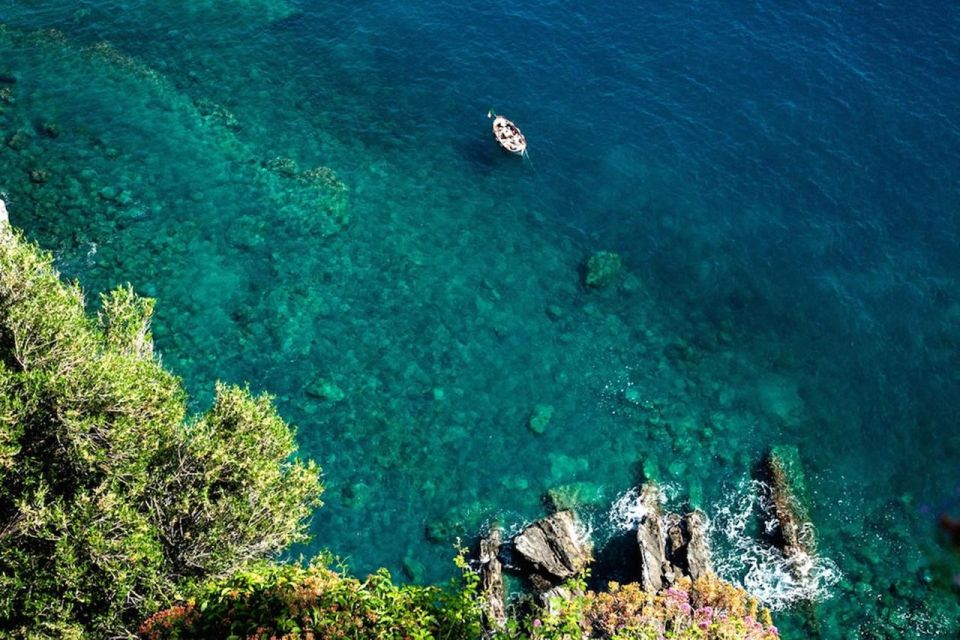
M794 575L803 578L809 571L810 554L816 541L803 503L805 485L796 447L771 449L764 473L770 485L773 515L779 525L776 543L783 550L784 557L791 561Z

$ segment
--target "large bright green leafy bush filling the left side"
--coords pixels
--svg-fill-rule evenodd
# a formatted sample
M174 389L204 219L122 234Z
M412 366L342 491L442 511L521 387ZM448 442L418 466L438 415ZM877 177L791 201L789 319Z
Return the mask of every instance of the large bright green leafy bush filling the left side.
M266 397L218 385L187 419L152 311L127 287L87 315L52 258L0 228L0 635L131 635L304 537L317 467Z

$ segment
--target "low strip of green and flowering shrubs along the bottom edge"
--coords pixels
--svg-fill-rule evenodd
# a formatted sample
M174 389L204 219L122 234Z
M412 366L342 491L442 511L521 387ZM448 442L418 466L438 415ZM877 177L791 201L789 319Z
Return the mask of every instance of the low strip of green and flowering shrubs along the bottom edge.
M147 640L204 638L443 638L490 640L777 640L770 612L743 589L714 576L681 578L661 593L610 583L587 591L565 584L567 597L546 608L520 603L503 627L485 632L474 597L476 576L446 588L397 587L385 573L360 582L322 566L264 564L207 586L197 597L147 620Z

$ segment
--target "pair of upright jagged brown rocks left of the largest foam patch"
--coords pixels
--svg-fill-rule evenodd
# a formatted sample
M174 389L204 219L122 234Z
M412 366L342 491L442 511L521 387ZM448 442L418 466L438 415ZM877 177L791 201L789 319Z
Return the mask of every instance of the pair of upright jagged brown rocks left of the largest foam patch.
M640 586L657 592L671 586L678 577L696 580L711 572L707 543L707 517L701 511L684 516L663 515L660 490L647 483L640 490L643 517L637 529L640 547Z

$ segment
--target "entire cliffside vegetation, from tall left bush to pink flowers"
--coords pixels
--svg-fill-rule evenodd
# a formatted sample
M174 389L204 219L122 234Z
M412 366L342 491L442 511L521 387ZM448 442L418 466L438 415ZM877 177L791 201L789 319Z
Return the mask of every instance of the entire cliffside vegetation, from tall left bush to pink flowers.
M154 357L153 301L129 287L87 314L52 257L0 222L0 637L444 638L483 633L463 554L450 585L277 563L319 504L268 397L219 385L188 417ZM715 578L518 606L504 639L771 638Z

